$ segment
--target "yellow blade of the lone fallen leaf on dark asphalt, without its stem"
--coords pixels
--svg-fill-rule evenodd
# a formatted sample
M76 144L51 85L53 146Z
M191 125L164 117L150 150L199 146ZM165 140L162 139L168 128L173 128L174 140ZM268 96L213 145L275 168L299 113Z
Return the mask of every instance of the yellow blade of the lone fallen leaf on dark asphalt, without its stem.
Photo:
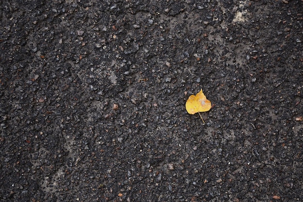
M189 114L195 114L197 112L209 111L212 108L212 103L202 92L202 89L196 95L191 95L185 104L186 111Z

